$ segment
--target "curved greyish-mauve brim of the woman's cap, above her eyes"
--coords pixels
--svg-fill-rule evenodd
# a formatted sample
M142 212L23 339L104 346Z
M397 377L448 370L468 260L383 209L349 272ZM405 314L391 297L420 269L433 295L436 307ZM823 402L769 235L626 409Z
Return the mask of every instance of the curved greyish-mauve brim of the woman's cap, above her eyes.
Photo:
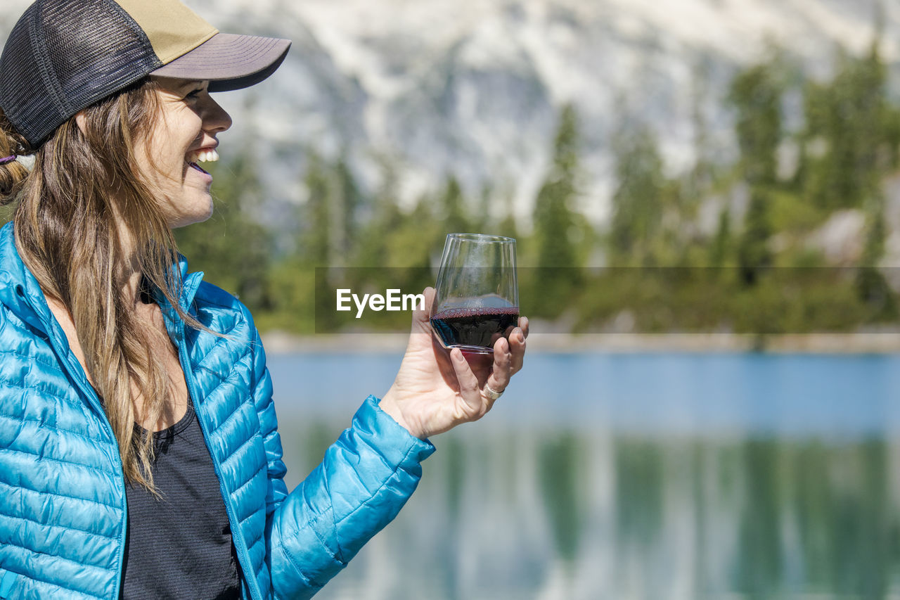
M216 33L150 75L209 80L211 92L227 92L254 86L275 73L290 48L290 40Z

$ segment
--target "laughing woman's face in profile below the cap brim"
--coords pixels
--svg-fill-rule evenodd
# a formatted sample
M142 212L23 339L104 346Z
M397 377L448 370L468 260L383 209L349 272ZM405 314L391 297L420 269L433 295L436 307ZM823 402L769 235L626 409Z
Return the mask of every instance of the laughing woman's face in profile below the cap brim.
M166 220L174 229L210 218L212 176L197 163L219 159L216 135L231 126L231 117L211 98L208 81L157 81L160 115L141 167L163 193Z

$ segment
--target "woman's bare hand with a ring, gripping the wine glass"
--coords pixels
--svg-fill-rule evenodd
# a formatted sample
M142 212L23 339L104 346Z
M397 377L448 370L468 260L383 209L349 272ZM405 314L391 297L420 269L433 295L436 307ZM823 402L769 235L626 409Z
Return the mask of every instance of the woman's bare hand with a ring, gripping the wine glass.
M434 297L434 288L425 288L426 307ZM527 335L528 320L520 317L509 341L494 343L493 355L467 359L459 349L447 352L432 335L428 308L413 311L410 342L382 410L422 440L481 419L494 404L491 390L502 393L522 368Z

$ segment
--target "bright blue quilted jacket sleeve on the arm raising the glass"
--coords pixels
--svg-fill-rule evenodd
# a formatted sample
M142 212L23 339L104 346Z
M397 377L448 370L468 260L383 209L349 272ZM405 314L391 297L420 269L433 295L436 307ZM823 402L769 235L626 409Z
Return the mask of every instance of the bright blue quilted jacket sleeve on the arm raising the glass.
M266 535L272 592L279 599L310 598L400 512L419 485L419 463L435 448L410 435L370 395L319 467L288 495L261 346L257 354L261 377L255 401L269 468Z

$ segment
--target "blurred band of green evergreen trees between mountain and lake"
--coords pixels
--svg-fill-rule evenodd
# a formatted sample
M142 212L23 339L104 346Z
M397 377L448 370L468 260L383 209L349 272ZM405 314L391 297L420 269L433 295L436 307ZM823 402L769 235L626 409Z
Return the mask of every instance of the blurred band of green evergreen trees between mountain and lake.
M603 227L579 208L579 116L566 105L533 214L517 214L490 186L466 195L453 174L401 207L389 162L379 189L365 192L346 159L306 150L298 175L306 202L286 209L296 233L285 241L257 218L264 192L253 157L232 152L211 168L216 214L177 230L179 250L192 270L238 295L264 332L405 330L408 313L370 313L362 323L338 314L334 289L419 293L434 284L448 232L517 238L521 312L557 331L765 336L890 326L900 280L885 264L887 208L891 183L900 189L900 103L877 49L839 53L827 80L777 51L739 71L722 99L738 149L728 164L707 147L698 119L696 164L669 176L652 130L623 124L610 141L615 181ZM703 228L710 207L716 226ZM861 223L850 250L816 242L835 219Z

